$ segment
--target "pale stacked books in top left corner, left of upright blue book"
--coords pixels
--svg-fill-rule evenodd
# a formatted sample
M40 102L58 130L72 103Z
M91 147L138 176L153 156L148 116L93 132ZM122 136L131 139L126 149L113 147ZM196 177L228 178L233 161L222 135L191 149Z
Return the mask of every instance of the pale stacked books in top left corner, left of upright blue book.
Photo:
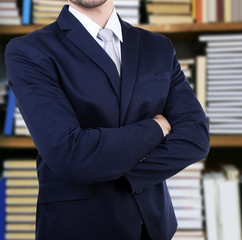
M20 25L21 17L17 0L0 1L0 25Z

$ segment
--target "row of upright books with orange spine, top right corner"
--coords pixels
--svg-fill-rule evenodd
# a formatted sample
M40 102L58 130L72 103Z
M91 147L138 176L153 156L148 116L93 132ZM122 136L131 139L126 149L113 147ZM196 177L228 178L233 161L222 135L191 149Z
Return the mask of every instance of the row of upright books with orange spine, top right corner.
M198 23L242 21L241 0L196 0Z

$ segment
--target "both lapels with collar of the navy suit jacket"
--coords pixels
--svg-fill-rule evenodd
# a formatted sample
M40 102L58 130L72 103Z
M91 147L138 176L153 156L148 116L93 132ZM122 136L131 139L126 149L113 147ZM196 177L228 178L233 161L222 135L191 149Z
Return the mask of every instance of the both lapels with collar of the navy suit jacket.
M139 58L139 34L130 24L119 17L123 42L121 43L121 80L114 62L102 47L97 44L85 27L69 12L68 5L63 6L57 23L66 37L80 48L107 75L110 85L120 104L120 126L125 122L129 103L136 80ZM121 85L120 85L121 82Z

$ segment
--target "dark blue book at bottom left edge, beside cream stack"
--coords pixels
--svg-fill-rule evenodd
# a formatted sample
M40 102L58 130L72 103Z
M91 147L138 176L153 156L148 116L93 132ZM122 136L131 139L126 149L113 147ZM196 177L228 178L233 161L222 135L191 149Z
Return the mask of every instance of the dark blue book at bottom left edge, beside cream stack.
M0 178L0 240L4 240L5 232L5 179Z

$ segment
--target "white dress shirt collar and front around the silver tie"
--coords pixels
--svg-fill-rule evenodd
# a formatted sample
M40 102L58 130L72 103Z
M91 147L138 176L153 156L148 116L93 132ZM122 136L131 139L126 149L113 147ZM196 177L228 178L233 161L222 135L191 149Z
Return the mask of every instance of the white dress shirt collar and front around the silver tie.
M69 11L81 22L81 24L86 28L86 30L90 33L90 35L98 42L98 44L104 48L104 42L97 37L98 32L102 27L100 27L98 24L96 24L94 21L92 21L89 17L87 17L85 14L80 13L75 8L69 6ZM121 64L121 46L120 42L123 42L123 35L122 35L122 29L121 24L118 19L117 13L115 8L113 9L113 12L108 19L108 22L105 26L105 28L111 29L114 33L114 48L116 50L116 53L118 55L120 64Z

